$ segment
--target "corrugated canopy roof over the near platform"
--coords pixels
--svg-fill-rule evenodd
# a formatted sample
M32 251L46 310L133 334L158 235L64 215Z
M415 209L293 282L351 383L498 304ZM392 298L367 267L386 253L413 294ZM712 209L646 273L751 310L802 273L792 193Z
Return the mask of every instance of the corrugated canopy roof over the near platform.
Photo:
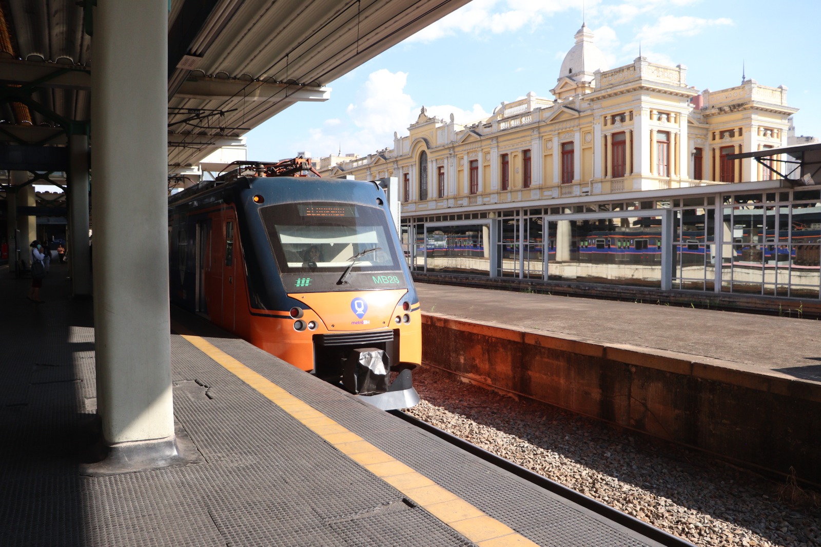
M468 1L171 0L169 173L298 101L328 100L333 80ZM0 0L0 144L87 131L97 2Z

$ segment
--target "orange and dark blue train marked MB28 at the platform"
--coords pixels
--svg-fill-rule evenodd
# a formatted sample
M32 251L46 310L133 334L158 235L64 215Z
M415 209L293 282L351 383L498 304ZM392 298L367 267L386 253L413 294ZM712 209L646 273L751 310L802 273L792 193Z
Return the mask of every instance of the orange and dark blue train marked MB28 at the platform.
M233 167L169 199L172 303L377 407L414 406L420 303L383 189L305 159Z

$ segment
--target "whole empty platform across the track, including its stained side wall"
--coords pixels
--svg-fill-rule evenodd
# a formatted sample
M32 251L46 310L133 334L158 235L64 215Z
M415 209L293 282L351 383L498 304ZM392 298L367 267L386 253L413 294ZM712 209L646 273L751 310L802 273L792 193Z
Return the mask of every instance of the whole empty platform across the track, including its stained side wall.
M423 361L821 484L821 323L417 283Z

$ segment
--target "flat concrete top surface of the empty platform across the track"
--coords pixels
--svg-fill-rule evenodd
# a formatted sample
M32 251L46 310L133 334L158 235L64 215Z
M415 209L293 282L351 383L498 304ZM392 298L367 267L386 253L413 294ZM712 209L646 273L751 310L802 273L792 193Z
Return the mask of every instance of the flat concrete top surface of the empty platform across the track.
M777 317L429 283L416 289L423 312L704 356L821 387L821 321L798 319L795 310Z

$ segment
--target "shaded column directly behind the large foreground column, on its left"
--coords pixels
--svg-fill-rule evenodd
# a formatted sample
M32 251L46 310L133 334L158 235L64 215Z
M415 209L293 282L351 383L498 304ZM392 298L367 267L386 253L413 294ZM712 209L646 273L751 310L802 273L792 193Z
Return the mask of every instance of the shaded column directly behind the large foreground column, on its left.
M91 296L89 260L89 137L71 135L68 140L68 249L71 260L71 294Z

